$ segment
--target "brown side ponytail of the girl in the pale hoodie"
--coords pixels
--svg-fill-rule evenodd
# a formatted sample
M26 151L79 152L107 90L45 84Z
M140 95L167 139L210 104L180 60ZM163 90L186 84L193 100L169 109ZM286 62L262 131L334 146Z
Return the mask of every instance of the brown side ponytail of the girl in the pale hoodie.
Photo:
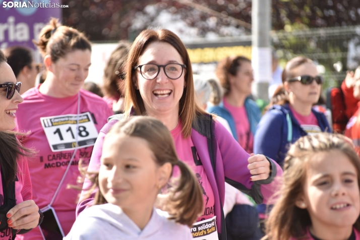
M192 226L203 210L202 191L192 169L182 161L177 161L176 165L181 175L177 187L170 190L165 210L170 214L169 219Z

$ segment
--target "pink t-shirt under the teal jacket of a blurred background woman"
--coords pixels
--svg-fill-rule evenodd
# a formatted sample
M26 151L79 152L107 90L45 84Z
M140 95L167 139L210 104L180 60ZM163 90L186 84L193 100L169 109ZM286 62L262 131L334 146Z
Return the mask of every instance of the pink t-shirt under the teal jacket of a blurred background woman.
M236 107L223 99L224 107L230 112L235 122L237 141L248 153L253 152L254 136L250 130L250 123L245 106Z

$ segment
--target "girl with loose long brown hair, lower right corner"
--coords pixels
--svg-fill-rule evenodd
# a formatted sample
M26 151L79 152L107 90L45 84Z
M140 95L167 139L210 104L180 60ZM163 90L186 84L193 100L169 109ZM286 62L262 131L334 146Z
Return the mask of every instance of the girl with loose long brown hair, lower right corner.
M351 140L328 133L299 138L285 158L264 239L360 239L359 173Z

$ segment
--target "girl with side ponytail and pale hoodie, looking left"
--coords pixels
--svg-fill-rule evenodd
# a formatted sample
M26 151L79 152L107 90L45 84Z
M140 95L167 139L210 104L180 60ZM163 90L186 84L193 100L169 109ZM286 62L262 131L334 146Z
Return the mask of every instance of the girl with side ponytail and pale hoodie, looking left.
M154 204L175 166L181 175L162 200L165 213ZM191 226L202 212L200 186L156 118L135 116L116 123L104 138L92 182L91 190L100 189L95 206L79 215L65 239L192 239L185 225Z

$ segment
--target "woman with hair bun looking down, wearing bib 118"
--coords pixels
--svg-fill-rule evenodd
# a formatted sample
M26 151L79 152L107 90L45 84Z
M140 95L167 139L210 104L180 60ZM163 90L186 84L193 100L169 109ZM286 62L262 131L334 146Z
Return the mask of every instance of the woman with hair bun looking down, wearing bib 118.
M91 65L91 45L84 34L52 19L41 30L37 45L46 80L23 95L16 123L19 131L30 131L24 144L38 151L29 161L33 199L40 209L53 208L55 213L48 213L65 235L75 221L78 201L77 191L67 185L76 184L79 160L89 162L94 140L112 112L100 97L81 89ZM47 219L41 225L44 236L56 239L44 225ZM42 239L40 228L22 238Z

